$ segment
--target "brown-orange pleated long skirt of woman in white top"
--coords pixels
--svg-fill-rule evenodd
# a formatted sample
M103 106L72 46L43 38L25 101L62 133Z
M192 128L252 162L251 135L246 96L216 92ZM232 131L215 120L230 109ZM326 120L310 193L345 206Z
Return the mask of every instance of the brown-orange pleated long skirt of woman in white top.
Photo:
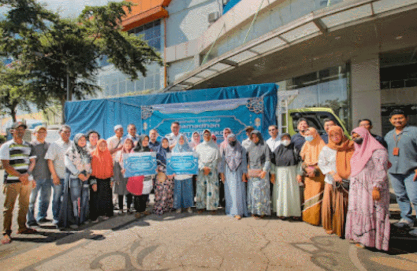
M341 238L344 237L348 197L342 187L336 188L329 183L324 185L321 224L325 230L331 230Z

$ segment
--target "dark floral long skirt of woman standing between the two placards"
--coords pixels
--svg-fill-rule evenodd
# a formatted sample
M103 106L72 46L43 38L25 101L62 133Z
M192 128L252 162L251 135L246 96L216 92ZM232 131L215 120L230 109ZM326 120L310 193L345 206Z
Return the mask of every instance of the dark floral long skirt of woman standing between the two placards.
M153 213L162 215L171 212L173 208L173 189L174 182L167 178L165 173L158 173L155 181L155 204L153 205Z

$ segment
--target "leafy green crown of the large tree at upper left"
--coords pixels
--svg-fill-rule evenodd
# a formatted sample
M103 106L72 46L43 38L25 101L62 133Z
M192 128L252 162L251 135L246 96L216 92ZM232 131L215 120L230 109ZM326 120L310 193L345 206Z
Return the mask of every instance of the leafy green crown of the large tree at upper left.
M98 59L108 56L115 68L133 80L146 75L146 65L162 59L140 37L123 32L121 22L131 3L109 2L106 6L87 6L81 15L62 19L34 0L0 0L11 8L0 23L0 48L5 55L20 59L27 70L32 100L45 109L59 100L64 109L67 86L71 97L83 99L100 90L96 76ZM68 80L67 80L68 77Z

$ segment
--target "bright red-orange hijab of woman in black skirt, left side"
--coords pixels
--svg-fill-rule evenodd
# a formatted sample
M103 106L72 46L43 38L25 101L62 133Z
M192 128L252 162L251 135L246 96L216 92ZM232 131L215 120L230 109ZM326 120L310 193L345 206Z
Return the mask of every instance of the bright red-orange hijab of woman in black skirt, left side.
M93 171L91 175L98 179L107 179L113 176L113 160L107 146L104 151L99 150L98 146L102 142L106 142L106 140L100 139L97 142L97 148L91 153L91 168Z

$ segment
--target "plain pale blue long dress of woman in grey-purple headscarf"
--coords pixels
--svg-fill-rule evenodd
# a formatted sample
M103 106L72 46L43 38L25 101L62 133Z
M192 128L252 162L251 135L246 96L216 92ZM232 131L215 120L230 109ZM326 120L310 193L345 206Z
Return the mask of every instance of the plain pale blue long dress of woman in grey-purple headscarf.
M237 142L237 141L236 141ZM226 198L225 213L229 216L245 216L247 217L247 205L246 205L246 184L242 181L242 175L247 172L246 162L246 150L240 143L237 142L240 147L241 163L239 165L233 165L232 168L226 162L226 155L234 155L232 148L225 149L222 155L222 161L220 166L220 172L224 172L224 196ZM230 154L229 154L230 153Z

